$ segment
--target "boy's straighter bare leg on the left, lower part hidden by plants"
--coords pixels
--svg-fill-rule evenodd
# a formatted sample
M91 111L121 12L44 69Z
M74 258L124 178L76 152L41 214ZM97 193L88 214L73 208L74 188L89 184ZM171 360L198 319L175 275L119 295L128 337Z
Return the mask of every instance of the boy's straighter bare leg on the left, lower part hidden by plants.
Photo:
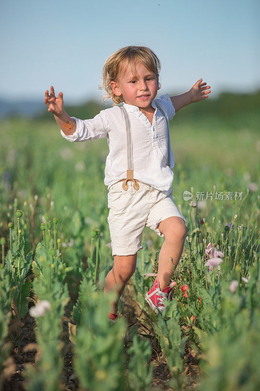
M113 269L107 274L105 279L104 293L115 290L118 298L114 303L110 303L110 312L116 314L118 302L124 291L125 285L130 280L136 270L137 253L133 255L115 255Z

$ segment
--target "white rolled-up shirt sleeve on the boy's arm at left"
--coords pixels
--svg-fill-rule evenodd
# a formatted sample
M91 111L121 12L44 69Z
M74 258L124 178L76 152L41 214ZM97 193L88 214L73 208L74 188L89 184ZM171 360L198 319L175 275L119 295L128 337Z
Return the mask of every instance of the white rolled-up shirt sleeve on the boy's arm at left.
M73 134L67 136L62 129L60 134L68 141L89 141L94 139L105 138L107 136L108 120L105 110L101 110L94 118L79 119L71 117L75 120L77 128Z

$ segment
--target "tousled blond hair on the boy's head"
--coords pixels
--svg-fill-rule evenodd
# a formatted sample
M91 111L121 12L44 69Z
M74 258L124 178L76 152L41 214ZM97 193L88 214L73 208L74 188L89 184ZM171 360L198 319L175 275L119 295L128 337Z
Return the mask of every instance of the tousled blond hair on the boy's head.
M99 86L99 89L104 89L107 93L103 96L103 102L105 100L112 98L114 104L118 105L123 102L124 99L122 95L117 96L114 94L112 87L110 85L111 81L118 82L118 75L122 71L123 65L131 64L131 69L133 74L136 74L136 61L140 61L141 64L146 66L151 72L156 75L159 74L161 64L157 55L146 46L125 46L113 53L106 60L103 69L103 85ZM125 72L124 72L125 73ZM159 83L160 88L160 83Z

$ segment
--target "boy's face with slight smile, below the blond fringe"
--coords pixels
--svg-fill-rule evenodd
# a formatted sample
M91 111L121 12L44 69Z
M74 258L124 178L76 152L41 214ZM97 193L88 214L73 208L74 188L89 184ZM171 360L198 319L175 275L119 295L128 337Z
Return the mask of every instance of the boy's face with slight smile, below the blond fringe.
M111 82L113 92L117 96L122 95L128 105L151 108L151 102L159 89L159 75L155 75L139 61L136 62L136 71L137 75L133 75L131 65L124 65L118 76L118 83Z

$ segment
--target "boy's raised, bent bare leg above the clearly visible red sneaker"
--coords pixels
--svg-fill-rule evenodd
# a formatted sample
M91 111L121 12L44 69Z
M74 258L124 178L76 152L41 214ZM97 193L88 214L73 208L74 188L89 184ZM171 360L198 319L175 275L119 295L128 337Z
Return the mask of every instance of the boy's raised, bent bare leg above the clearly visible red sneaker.
M180 261L187 231L185 222L181 217L168 217L160 222L158 228L165 238L160 250L157 275L160 290L162 290L168 286L173 276L173 265L170 257L173 259L175 270Z

